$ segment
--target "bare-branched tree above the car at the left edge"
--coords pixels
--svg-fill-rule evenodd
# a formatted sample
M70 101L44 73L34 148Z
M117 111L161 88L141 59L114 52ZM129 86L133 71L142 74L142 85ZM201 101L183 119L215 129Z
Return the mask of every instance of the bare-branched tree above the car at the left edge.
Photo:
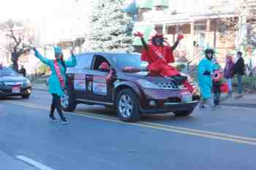
M29 45L34 42L34 36L29 35L29 29L23 23L8 20L0 23L0 30L6 35L6 48L12 55L12 69L18 72L18 59L29 53Z

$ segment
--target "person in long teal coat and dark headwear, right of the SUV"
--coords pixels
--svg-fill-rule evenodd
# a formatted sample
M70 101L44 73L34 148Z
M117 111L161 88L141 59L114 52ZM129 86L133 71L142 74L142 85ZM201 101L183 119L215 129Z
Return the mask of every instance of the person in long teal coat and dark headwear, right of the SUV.
M199 88L201 93L201 99L199 103L199 107L201 109L205 108L205 104L214 109L214 102L211 96L211 88L212 88L212 78L211 75L214 72L214 63L212 63L212 58L214 56L214 50L206 49L205 51L206 57L203 58L198 66L198 80L199 80Z

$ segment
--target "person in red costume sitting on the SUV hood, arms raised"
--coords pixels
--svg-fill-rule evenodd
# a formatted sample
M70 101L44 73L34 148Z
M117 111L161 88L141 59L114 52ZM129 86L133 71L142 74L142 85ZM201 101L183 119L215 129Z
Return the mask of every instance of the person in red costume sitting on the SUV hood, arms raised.
M179 34L176 42L172 47L166 41L163 35L156 34L147 44L143 38L143 34L140 32L135 33L135 36L140 37L143 44L143 51L141 53L141 60L148 62L147 69L149 75L162 77L170 77L176 82L176 85L184 84L184 86L192 93L193 88L187 82L187 77L181 76L180 72L168 63L174 63L175 59L173 56L173 50L176 49L178 43L184 38L183 35Z

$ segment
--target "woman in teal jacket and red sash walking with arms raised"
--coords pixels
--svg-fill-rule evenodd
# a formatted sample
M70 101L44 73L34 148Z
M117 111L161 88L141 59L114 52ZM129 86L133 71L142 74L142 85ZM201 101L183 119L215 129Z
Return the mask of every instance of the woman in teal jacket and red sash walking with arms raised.
M59 116L61 117L61 123L67 124L67 119L64 117L63 112L61 110L61 96L64 95L64 88L67 84L67 76L66 76L66 69L67 67L76 66L77 61L75 59L75 55L73 50L70 51L71 53L71 61L64 61L63 53L60 47L54 47L55 58L54 60L50 60L48 58L44 58L36 48L33 48L34 54L37 58L39 58L42 63L45 63L50 67L51 75L48 80L48 88L49 92L53 96L53 101L50 107L50 120L56 120L54 117L54 111L57 109L59 112Z

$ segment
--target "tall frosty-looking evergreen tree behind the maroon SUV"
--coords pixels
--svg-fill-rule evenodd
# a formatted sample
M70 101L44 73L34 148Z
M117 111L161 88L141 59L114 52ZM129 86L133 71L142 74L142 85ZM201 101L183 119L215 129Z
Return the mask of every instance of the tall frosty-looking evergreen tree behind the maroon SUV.
M133 21L123 6L124 0L99 0L94 4L92 29L83 46L86 51L133 50Z

